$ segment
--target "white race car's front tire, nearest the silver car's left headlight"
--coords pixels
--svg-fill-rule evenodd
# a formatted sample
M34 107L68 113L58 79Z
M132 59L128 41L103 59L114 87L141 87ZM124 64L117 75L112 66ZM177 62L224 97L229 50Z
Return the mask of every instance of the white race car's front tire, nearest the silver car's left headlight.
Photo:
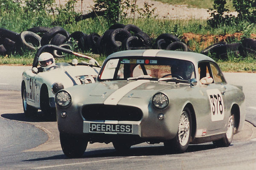
M44 112L46 115L56 117L55 108L51 108L49 105L49 93L48 93L48 88L45 84L41 86L40 108L41 108L41 111Z

